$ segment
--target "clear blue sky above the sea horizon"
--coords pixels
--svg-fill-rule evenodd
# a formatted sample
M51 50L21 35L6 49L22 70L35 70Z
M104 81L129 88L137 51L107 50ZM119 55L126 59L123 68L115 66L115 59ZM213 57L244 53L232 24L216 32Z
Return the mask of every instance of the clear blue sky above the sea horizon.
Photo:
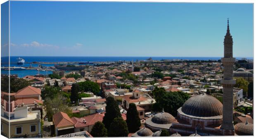
M10 4L11 56L253 57L253 5L132 2Z

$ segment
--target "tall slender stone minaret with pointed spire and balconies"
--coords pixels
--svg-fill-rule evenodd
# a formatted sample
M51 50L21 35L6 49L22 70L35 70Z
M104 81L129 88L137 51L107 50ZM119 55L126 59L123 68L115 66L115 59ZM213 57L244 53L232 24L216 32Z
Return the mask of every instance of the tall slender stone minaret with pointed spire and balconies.
M223 121L220 129L223 129L223 135L234 135L235 128L233 124L233 87L236 80L233 79L233 39L230 35L229 21L228 29L224 39L224 58L221 58L224 66L223 78L221 84L223 86Z

